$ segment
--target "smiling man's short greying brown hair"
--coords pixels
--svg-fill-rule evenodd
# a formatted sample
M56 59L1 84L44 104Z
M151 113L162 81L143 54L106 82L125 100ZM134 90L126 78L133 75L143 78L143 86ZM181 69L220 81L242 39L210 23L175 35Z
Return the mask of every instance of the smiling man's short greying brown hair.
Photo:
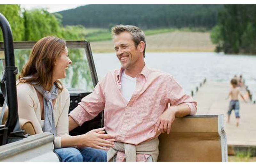
M117 36L121 34L122 32L130 32L132 35L132 40L135 43L135 46L137 47L140 44L140 41L143 41L145 43L145 48L143 51L143 56L145 58L145 52L146 52L146 40L145 40L145 34L140 28L137 26L132 25L117 25L112 27L111 34L112 36Z

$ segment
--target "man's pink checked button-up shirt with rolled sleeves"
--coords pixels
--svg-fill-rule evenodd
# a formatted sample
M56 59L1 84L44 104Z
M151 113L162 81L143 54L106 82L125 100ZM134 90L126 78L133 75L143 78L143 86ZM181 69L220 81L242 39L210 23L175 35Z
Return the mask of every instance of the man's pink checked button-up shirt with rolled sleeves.
M130 102L121 93L121 74L114 70L100 80L92 94L84 97L70 116L77 124L96 117L104 109L104 126L117 142L138 145L159 134L154 133L158 117L171 106L186 103L196 114L196 102L185 94L170 74L148 68L137 75L137 86ZM137 162L145 162L149 155L137 154ZM117 153L116 162L124 162L123 152Z

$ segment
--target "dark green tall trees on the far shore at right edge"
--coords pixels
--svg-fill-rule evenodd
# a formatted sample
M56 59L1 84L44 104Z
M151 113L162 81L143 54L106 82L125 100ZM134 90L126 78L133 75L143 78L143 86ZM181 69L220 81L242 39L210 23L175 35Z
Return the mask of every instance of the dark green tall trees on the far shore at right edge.
M231 54L256 53L256 4L225 4L218 15L217 27L211 34L216 50Z

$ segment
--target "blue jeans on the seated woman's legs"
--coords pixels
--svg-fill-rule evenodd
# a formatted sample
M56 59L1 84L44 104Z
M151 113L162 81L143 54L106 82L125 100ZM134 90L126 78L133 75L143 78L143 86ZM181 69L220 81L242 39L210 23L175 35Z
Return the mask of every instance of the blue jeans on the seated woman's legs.
M107 162L107 151L85 147L76 149L74 147L55 149L62 162Z

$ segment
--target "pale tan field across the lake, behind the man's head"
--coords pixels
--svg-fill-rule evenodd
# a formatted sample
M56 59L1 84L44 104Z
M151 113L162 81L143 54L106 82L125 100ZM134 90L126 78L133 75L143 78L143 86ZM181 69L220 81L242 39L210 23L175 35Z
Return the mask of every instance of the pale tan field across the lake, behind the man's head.
M145 31L145 34L147 52L211 52L215 49L215 45L212 44L210 40L209 32L166 29L161 30L161 32L157 30L148 30ZM114 46L111 40L93 41L91 42L91 46L93 52L114 52Z

